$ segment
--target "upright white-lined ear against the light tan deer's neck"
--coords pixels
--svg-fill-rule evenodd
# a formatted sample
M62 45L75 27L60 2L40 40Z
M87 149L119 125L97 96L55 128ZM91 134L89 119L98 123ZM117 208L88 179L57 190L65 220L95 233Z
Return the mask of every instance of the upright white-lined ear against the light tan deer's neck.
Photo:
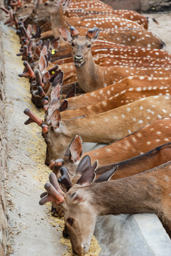
M82 157L83 149L82 149L82 138L78 135L75 136L72 143L70 144L70 159L73 162L79 161Z

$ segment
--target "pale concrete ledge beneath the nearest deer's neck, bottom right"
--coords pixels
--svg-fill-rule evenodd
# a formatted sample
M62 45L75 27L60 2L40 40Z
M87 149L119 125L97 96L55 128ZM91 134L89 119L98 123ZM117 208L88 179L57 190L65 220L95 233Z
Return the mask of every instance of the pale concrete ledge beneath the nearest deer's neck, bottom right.
M155 214L98 217L94 235L102 256L170 256L170 238Z

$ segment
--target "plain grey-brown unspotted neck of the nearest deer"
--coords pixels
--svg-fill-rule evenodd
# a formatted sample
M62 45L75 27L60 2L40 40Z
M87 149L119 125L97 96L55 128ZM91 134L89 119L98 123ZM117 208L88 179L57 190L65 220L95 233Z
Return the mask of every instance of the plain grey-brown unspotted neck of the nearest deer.
M97 215L159 213L161 186L148 172L117 181L105 181L85 188L91 190ZM161 214L162 215L162 214Z

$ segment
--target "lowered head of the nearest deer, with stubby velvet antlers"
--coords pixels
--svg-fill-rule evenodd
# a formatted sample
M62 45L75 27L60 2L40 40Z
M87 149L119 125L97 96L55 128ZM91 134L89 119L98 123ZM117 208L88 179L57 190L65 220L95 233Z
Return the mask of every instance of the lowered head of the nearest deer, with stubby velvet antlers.
M95 167L95 166L94 166ZM87 169L79 178L77 184L63 195L55 174L50 174L50 183L45 183L45 190L48 194L43 193L40 199L40 205L51 201L60 206L64 212L65 229L70 236L72 250L78 255L83 255L88 252L94 227L96 223L97 212L93 204L89 203L91 193L82 190L89 188L94 181L95 174L93 166ZM118 166L116 166L107 177L111 178ZM104 180L103 180L104 181ZM99 182L99 181L98 181ZM101 181L100 181L101 182ZM92 199L91 199L92 200ZM80 217L83 218L80 218Z

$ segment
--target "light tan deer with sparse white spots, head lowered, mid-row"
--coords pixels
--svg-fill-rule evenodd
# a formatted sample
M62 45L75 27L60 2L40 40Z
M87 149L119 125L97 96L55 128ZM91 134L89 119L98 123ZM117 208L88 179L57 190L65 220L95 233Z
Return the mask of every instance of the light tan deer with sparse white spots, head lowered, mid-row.
M60 158L76 134L83 142L109 144L164 117L170 117L169 96L146 97L114 110L75 119L61 120L59 110L55 110L50 116L50 125L43 125L47 143L45 163Z

